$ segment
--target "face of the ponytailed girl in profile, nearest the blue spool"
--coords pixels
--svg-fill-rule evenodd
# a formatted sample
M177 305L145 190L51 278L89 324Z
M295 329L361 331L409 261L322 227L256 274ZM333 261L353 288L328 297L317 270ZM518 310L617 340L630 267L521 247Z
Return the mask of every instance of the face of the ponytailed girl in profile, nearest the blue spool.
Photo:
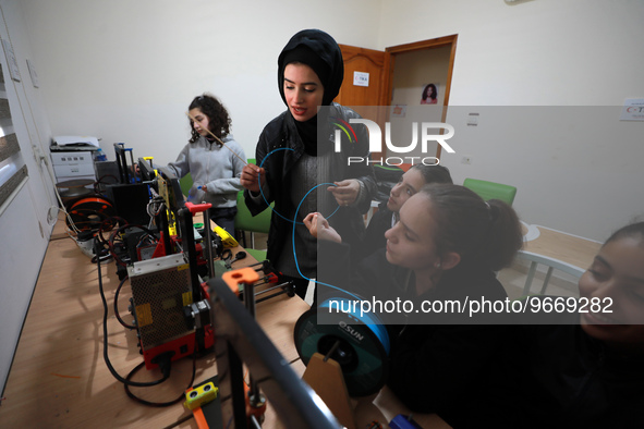
M400 208L400 221L385 233L387 260L414 271L433 269L439 261L434 244L436 222L427 196L410 197Z

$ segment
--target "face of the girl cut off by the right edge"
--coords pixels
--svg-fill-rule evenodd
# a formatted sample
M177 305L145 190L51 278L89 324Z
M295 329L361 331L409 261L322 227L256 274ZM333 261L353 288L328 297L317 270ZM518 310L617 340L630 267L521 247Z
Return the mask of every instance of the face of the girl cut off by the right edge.
M640 238L605 244L581 277L579 289L588 299L584 308L588 312L581 314L588 335L615 347L644 350L644 243Z

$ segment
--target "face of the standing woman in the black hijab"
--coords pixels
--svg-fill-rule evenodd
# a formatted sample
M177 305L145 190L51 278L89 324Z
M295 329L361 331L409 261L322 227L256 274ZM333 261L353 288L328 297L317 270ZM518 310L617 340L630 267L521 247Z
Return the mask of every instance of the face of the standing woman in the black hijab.
M296 121L308 121L317 114L325 89L313 69L301 63L288 64L283 85L287 106Z

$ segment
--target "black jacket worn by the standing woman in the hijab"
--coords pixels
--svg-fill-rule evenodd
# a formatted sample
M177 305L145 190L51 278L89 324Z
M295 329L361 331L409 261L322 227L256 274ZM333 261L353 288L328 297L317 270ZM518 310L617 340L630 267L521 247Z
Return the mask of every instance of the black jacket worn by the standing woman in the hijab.
M353 110L342 107L338 103L332 103L330 107L331 117L340 118L347 122L351 118L360 118ZM328 126L324 121L319 121L318 126ZM366 127L364 125L353 125L357 134L356 143L349 143L342 136L341 151L333 152L333 162L331 162L330 177L333 181L342 181L345 179L357 179L364 184L361 189L360 204L350 207L340 207L338 211L329 219L329 223L342 235L342 238L348 243L355 243L362 238L364 233L364 221L362 213L366 213L370 207L372 195L375 193L376 182L373 168L365 162L352 162L348 166L349 157L362 157L368 159L368 137ZM328 127L329 145L333 144L335 135L332 127ZM293 117L288 111L283 112L274 119L262 132L259 142L255 152L257 166L260 166L271 151L280 148L288 148L292 150L278 150L271 154L264 162L266 169L265 180L270 189L270 204L275 200L275 210L287 219L293 219L296 207L290 199L290 187L293 177L291 170L297 160L304 154L304 146L296 132ZM267 205L264 200L256 203L253 200L248 191L244 192L246 205L251 213L257 214L266 209ZM268 233L268 252L267 258L277 265L279 260L279 250L284 245L284 241L290 236L289 229L292 224L283 219L281 216L272 214L270 220L270 231Z

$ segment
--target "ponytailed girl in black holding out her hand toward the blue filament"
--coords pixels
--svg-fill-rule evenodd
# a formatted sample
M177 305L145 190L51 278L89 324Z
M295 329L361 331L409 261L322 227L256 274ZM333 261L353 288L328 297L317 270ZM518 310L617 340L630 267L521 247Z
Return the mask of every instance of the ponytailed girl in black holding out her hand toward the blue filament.
M402 205L399 222L385 233L386 249L349 270L348 246L328 222L312 213L305 223L318 237L318 255L328 257L318 260L319 302L339 293L324 282L368 302L413 303L378 314L391 341L388 385L413 412L437 413L458 427L466 417L461 400L483 385L507 341L507 314L470 314L467 304L506 302L496 271L523 243L514 210L463 186L426 185Z

